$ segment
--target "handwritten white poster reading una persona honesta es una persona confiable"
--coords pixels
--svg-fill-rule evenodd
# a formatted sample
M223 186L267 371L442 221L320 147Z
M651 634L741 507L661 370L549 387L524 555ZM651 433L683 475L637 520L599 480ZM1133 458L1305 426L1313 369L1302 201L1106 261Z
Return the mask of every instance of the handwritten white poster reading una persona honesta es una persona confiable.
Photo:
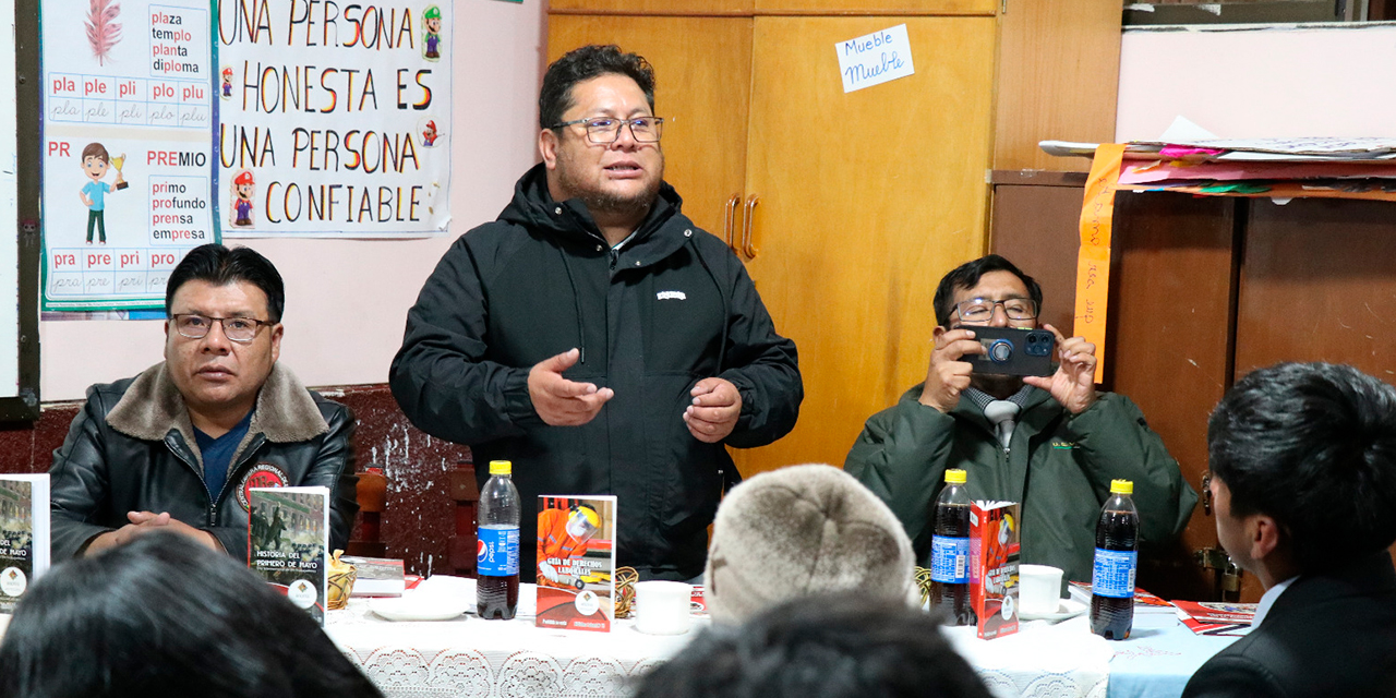
M444 232L451 10L450 0L222 0L223 236Z

